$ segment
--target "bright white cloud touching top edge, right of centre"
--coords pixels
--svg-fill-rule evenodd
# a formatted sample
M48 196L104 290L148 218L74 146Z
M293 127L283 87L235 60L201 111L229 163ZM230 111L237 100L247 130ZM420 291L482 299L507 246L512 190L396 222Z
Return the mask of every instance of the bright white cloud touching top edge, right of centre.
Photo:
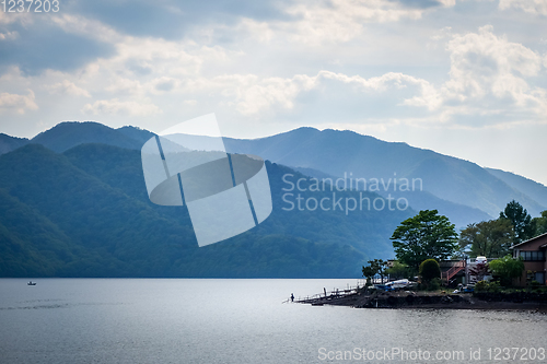
M289 42L318 46L359 38L369 24L419 20L424 14L454 4L455 0L291 1L277 7L277 13L284 16L230 13L229 19L222 16L221 21L210 23L207 27L195 27L189 34L219 44L253 38L259 43Z

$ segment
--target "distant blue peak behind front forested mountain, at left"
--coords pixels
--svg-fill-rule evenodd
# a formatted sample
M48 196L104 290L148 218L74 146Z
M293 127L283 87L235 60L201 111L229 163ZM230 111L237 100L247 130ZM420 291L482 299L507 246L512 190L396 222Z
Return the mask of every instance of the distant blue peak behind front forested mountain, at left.
M40 132L31 143L42 144L55 152L65 152L83 143L103 143L119 148L140 150L143 142L129 137L128 129L112 129L98 122L65 121Z

